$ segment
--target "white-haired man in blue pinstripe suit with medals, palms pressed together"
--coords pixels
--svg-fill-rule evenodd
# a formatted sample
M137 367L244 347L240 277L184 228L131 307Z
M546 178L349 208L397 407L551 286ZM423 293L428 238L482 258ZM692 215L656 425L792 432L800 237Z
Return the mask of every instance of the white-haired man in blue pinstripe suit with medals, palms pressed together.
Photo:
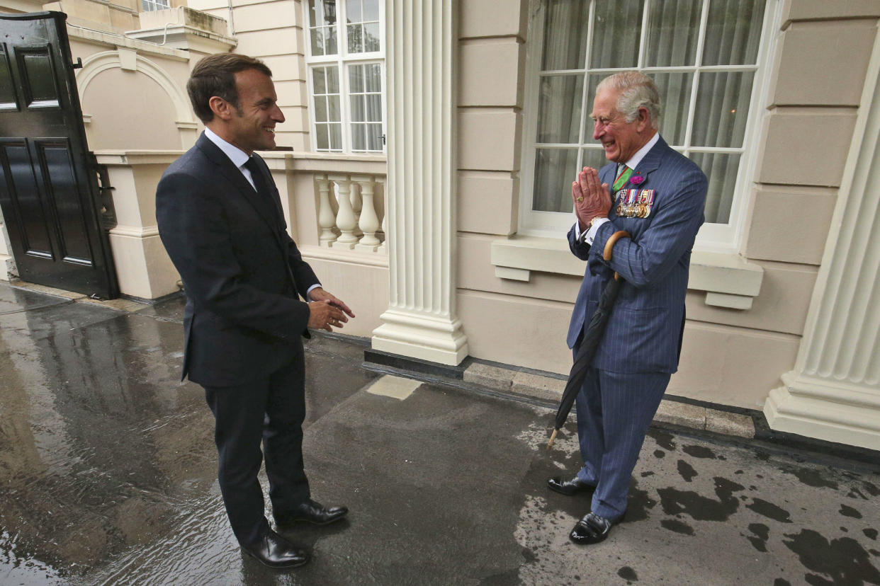
M657 133L660 98L648 76L630 71L605 78L590 118L593 138L617 164L599 172L584 167L571 186L577 222L568 244L587 270L569 348L579 347L615 271L624 282L577 395L583 467L570 481L547 482L563 495L592 492L590 512L570 534L581 544L604 540L623 518L645 433L678 369L687 273L708 186L700 168ZM605 262L605 243L620 230L630 237L613 243Z

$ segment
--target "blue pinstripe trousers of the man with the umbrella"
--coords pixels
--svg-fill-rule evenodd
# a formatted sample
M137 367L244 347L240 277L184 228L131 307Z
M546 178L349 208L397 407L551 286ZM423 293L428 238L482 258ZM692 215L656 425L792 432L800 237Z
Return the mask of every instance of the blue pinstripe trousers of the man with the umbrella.
M592 511L614 519L627 510L630 476L669 373L611 373L590 367L577 394L582 481L596 486Z

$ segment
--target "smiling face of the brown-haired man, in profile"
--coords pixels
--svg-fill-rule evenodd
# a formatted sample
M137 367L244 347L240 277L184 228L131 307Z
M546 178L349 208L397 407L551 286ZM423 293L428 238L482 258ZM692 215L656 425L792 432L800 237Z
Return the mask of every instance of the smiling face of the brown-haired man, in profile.
M238 108L230 105L224 139L248 155L275 148L275 124L284 121L272 78L256 69L235 74Z

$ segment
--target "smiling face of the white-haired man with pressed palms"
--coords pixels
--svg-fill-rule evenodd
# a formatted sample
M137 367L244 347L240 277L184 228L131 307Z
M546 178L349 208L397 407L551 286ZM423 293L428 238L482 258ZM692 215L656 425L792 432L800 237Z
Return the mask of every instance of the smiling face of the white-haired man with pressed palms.
M603 88L593 100L593 138L602 143L605 158L614 163L626 163L639 148L645 146L654 135L650 127L648 111L639 109L638 116L627 122L626 116L617 111L620 91Z

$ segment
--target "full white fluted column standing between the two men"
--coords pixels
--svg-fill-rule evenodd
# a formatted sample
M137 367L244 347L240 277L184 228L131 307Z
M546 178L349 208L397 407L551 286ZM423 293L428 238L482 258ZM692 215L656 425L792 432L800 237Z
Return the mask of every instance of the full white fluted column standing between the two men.
M389 304L372 344L458 365L455 315L458 0L385 3Z

